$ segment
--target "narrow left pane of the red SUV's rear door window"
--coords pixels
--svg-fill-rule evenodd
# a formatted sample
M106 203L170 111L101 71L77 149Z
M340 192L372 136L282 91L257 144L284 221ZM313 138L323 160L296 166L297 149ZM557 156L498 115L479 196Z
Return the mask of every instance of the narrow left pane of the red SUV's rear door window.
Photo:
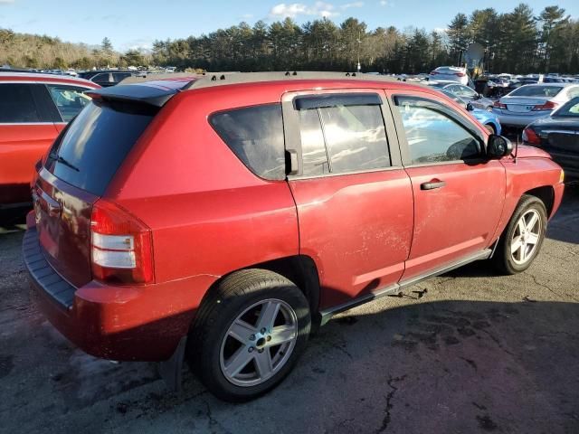
M318 109L299 110L299 136L303 175L329 173L324 133L319 121Z

